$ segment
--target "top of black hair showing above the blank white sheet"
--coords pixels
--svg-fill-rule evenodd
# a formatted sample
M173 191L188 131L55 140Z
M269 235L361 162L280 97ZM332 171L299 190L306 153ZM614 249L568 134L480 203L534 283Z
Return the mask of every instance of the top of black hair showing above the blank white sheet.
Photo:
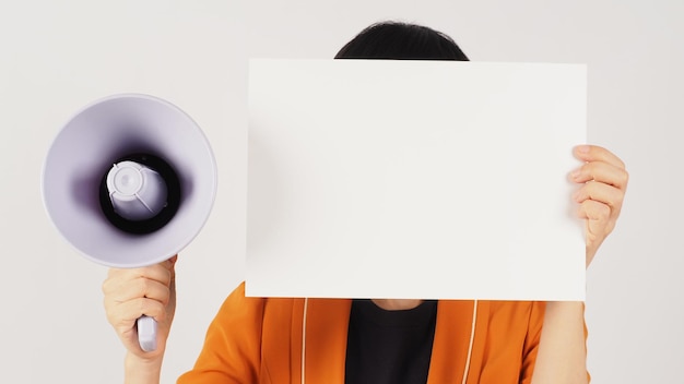
M448 35L402 22L368 26L342 47L334 58L469 61Z

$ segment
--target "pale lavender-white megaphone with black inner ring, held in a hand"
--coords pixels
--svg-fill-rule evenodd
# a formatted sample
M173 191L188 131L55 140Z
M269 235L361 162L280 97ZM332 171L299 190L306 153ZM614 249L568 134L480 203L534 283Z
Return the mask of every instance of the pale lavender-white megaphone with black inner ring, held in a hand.
M43 201L61 235L90 260L140 267L169 259L200 231L216 165L199 125L170 103L116 95L76 113L43 168ZM138 319L145 351L156 322Z

